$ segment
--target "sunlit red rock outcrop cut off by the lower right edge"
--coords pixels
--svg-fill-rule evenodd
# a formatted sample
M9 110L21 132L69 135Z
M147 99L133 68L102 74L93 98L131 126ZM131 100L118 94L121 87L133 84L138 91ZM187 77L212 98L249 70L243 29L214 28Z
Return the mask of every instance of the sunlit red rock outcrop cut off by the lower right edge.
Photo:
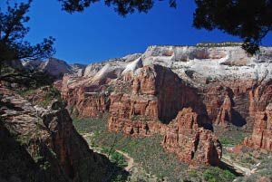
M244 144L252 148L263 148L272 151L272 103L266 110L257 111L252 136Z

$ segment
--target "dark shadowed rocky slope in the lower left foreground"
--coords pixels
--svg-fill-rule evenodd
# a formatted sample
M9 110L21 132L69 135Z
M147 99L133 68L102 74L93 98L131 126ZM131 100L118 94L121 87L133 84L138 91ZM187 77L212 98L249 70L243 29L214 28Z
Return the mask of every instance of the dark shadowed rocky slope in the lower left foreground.
M113 165L89 149L65 109L44 110L1 88L0 179L110 181Z

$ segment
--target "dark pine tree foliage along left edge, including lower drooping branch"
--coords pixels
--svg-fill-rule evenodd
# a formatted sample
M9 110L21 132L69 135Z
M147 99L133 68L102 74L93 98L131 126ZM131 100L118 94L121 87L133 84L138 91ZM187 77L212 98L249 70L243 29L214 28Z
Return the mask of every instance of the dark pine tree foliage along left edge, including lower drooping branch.
M6 0L5 12L0 9L0 81L37 87L51 83L52 76L44 72L22 70L19 65L20 69L18 69L10 63L43 59L54 53L53 37L45 38L44 42L35 45L24 41L25 35L29 32L25 23L30 19L26 14L31 3L32 0L28 0L27 3L10 5L9 0Z

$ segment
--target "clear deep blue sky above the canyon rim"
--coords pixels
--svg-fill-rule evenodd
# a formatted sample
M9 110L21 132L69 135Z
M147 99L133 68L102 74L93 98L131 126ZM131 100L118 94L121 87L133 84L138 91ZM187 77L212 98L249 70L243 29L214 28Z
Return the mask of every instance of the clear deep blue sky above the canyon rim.
M143 53L149 45L241 41L219 31L193 28L194 8L193 0L178 1L177 9L170 8L168 0L156 1L148 14L135 13L123 18L113 8L103 5L103 1L83 13L67 14L61 11L57 0L34 0L29 12L31 29L26 38L39 43L51 35L56 39L54 57L85 64ZM271 43L269 34L263 44Z

